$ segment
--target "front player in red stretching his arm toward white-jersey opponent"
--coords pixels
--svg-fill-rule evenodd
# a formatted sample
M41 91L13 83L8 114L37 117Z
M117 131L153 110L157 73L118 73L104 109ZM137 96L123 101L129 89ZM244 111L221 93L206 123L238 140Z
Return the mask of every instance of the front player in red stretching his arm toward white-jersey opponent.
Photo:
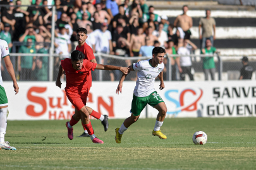
M68 138L73 139L73 126L78 123L81 119L83 127L86 128L90 139L92 142L97 144L103 144L104 142L98 139L94 135L94 129L89 120L89 112L87 110L86 101L88 96L88 90L90 89L90 84L92 83L92 77L90 77L90 71L94 69L101 70L120 70L123 74L128 73L128 68L118 67L114 65L102 65L90 62L84 59L85 56L82 52L75 50L71 53L71 59L61 60L61 65L59 65L59 73L56 80L56 86L61 88L61 74L63 71L66 72L66 96L70 100L73 106L75 106L76 111L72 116L70 122L66 122L66 127L68 128Z

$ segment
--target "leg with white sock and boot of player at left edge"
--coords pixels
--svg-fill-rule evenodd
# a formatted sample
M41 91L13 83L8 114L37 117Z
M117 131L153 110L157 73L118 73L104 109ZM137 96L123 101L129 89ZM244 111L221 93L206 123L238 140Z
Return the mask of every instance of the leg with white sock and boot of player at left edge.
M11 147L8 141L4 140L4 135L7 128L7 116L8 116L8 99L5 90L0 86L0 149L16 150L15 147Z

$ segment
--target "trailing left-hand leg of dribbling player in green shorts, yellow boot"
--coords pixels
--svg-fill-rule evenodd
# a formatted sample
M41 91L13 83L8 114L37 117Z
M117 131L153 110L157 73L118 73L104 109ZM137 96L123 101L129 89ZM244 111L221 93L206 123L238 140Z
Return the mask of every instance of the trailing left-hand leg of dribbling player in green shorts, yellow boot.
M147 97L137 97L133 94L133 101L131 101L131 116L126 118L125 122L121 125L120 128L116 128L116 143L121 143L121 138L123 133L135 123L140 117L140 113L147 105Z

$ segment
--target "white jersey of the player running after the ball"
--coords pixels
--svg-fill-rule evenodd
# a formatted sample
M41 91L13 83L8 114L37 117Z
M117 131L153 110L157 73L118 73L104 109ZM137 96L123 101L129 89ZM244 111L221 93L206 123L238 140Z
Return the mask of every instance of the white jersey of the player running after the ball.
M134 95L137 97L149 96L155 91L154 82L160 72L164 69L164 64L158 64L156 67L152 67L149 60L142 60L137 63L133 63L133 70L137 72L137 81L134 88Z

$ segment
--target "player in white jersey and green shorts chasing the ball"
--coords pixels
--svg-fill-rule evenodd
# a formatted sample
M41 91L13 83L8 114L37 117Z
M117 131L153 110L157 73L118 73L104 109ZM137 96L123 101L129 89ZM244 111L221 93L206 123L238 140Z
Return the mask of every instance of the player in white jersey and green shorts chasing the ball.
M133 101L131 102L131 116L126 118L125 122L121 125L120 128L116 128L116 143L121 143L121 137L123 132L130 127L131 124L135 123L140 117L140 113L143 108L147 104L154 107L159 111L155 127L152 132L152 135L158 136L160 139L166 139L166 135L164 135L160 128L162 123L164 123L164 118L166 117L166 104L162 100L162 98L157 94L154 88L155 78L158 76L160 79L160 88L164 89L164 79L163 72L164 63L164 55L166 54L166 50L162 47L155 47L152 50L152 59L142 60L140 62L134 63L130 65L129 71L138 71L137 72L137 82L135 89L133 91ZM126 74L127 75L127 74ZM119 81L118 88L116 89L116 93L122 93L123 81L126 77L125 74L121 77Z

